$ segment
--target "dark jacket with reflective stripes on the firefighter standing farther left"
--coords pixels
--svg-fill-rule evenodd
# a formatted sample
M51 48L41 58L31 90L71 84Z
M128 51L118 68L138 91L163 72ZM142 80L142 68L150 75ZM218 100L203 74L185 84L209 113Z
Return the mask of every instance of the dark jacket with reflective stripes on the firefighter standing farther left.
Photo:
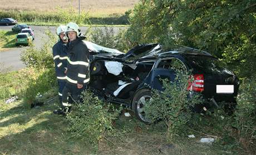
M67 68L67 46L62 40L58 41L52 47L53 61L55 63L55 71L58 81L66 79L64 71Z

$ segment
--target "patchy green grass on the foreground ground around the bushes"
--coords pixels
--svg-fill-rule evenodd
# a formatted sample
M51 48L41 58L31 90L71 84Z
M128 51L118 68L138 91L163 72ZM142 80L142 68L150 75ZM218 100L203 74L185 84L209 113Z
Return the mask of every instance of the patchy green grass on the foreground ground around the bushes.
M0 82L3 87L21 87L25 70L4 73ZM18 77L19 80L13 77ZM19 94L17 94L19 95ZM43 96L47 100L50 96ZM57 100L43 106L28 108L22 100L5 103L0 99L0 153L1 154L248 154L240 147L219 143L200 143L203 132L187 131L176 141L168 142L163 123L145 125L129 110L125 110L115 121L117 132L99 143L99 151L85 145L80 139L70 139L65 117L52 113ZM130 112L131 117L125 117ZM188 138L194 134L196 138ZM209 133L210 134L210 133ZM227 143L232 143L232 140Z

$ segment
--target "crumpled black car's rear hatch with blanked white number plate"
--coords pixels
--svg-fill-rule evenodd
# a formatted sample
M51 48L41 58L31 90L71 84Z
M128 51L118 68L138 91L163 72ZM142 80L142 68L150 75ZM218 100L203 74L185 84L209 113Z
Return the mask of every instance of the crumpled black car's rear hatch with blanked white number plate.
M209 55L191 54L187 58L194 75L203 76L200 84L203 84L202 94L205 97L216 101L232 101L237 96L239 80L227 69L227 65Z

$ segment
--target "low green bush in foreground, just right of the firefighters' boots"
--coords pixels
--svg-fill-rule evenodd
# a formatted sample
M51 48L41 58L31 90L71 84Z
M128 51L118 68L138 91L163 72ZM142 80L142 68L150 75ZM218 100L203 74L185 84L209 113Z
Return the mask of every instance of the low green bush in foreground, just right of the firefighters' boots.
M79 138L97 149L99 142L115 131L113 121L119 116L120 110L104 104L91 92L85 91L82 94L82 104L73 106L67 115L68 130L71 137Z

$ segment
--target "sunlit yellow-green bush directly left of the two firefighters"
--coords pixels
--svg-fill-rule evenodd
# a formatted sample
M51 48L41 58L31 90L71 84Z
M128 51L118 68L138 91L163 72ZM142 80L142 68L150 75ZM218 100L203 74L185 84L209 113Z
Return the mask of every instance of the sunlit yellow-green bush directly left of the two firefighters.
M52 56L52 46L57 42L57 37L50 30L46 30L46 35L50 39L45 40L42 48L37 49L31 44L21 54L29 70L29 76L24 80L26 89L23 91L23 101L28 106L33 104L38 94L44 94L57 86Z

